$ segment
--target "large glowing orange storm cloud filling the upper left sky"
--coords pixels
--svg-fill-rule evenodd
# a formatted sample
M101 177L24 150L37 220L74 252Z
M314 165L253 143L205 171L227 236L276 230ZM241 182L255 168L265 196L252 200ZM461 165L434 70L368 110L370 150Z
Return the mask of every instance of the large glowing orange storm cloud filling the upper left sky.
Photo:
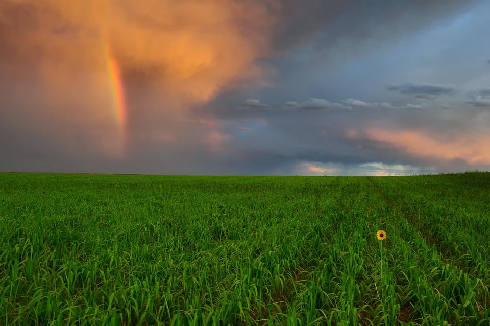
M253 61L267 52L272 22L263 4L226 0L18 0L2 7L5 16L18 16L2 17L10 42L35 57L49 81L62 72L104 69L107 42L123 69L193 100L208 100L233 79L260 77ZM34 22L22 25L21 18ZM42 58L27 54L33 50Z

